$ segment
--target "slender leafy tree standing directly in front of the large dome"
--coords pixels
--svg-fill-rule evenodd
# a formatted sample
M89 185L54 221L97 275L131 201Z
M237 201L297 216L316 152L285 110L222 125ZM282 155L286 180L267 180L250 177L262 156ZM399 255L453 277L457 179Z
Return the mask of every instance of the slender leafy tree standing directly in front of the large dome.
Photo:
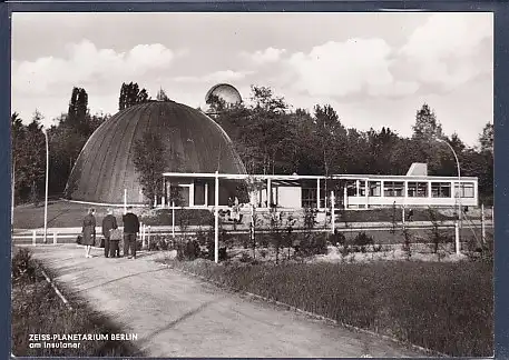
M158 131L146 131L135 142L134 163L145 197L154 204L163 191L161 173L166 168L166 151Z

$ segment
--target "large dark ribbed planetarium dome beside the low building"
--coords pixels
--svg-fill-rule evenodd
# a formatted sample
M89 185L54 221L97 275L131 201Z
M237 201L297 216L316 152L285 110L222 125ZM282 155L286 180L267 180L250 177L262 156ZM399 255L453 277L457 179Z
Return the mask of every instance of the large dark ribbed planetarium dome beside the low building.
M199 110L174 101L149 101L125 109L90 137L69 176L66 197L97 203L139 203L134 148L145 131L157 131L178 152L168 172L246 173L226 132Z

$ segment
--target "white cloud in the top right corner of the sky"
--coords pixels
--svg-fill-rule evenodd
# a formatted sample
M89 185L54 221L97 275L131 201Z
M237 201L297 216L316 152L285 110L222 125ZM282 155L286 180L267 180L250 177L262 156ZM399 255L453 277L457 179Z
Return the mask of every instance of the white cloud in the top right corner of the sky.
M490 13L434 13L398 56L417 80L450 89L492 73L492 37Z

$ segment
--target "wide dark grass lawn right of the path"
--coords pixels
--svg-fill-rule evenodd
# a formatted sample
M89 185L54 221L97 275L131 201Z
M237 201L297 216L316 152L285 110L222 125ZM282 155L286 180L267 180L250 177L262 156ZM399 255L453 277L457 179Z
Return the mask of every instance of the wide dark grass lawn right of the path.
M492 263L168 262L228 287L450 356L493 354Z

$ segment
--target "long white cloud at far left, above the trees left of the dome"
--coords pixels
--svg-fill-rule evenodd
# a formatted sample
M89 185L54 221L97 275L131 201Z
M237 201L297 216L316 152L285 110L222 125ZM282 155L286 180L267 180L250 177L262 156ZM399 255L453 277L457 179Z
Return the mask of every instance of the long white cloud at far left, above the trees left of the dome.
M125 79L167 69L176 54L160 43L138 44L127 52L97 49L84 40L66 47L68 57L12 62L12 87L23 93L45 93L55 86Z

